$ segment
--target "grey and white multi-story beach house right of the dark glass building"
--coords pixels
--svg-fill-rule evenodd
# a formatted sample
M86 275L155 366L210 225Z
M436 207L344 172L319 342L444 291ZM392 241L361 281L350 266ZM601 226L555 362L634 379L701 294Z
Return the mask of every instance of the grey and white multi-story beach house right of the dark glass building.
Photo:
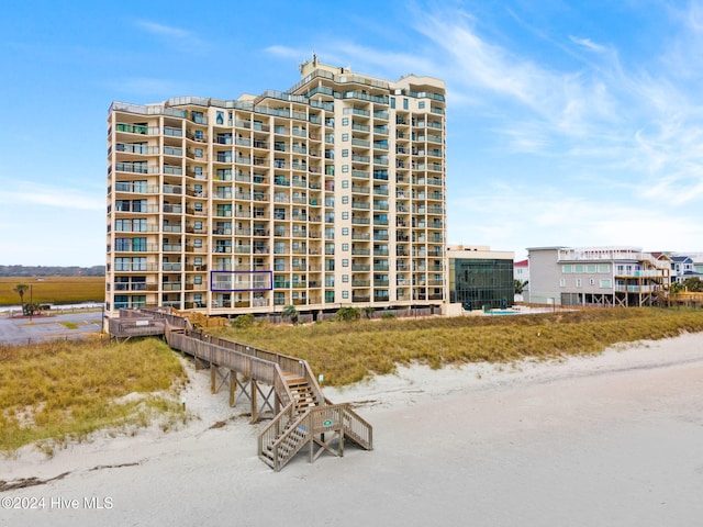
M637 247L533 247L533 304L641 306L669 288L671 262Z

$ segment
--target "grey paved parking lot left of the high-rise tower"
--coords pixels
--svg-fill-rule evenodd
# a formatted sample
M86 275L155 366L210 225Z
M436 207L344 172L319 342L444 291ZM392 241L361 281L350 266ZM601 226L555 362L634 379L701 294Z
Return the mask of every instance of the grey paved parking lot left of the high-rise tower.
M31 344L40 340L86 338L99 334L102 311L52 313L49 315L11 317L0 313L0 344Z

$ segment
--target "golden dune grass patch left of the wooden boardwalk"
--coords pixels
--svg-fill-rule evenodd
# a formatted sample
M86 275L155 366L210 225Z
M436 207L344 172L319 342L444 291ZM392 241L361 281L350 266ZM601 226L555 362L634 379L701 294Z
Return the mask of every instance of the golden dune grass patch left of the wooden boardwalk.
M186 373L160 340L0 346L0 450L82 440L99 429L163 428L188 416L176 397Z

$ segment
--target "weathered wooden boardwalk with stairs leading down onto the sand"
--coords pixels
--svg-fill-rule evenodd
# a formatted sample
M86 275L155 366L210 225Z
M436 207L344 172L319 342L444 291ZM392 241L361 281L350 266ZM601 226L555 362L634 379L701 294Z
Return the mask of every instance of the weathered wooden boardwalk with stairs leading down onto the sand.
M345 440L373 448L371 425L348 403L325 399L305 360L196 332L188 318L165 310L122 310L110 319L109 332L115 338L164 335L171 348L193 357L197 367L210 368L213 393L226 384L231 406L237 394L248 399L252 423L270 416L257 452L276 471L302 450L312 462L325 451L343 456Z

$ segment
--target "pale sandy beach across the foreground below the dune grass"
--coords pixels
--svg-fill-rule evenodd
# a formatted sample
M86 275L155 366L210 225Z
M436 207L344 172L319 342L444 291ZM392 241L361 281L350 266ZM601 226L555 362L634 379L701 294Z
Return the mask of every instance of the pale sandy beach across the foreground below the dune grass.
M700 526L703 335L595 357L433 371L342 390L375 450L304 455L275 473L246 405L189 367L177 431L96 437L0 459L7 526ZM321 372L324 373L324 372ZM224 422L224 426L213 427ZM8 506L19 506L10 508Z

